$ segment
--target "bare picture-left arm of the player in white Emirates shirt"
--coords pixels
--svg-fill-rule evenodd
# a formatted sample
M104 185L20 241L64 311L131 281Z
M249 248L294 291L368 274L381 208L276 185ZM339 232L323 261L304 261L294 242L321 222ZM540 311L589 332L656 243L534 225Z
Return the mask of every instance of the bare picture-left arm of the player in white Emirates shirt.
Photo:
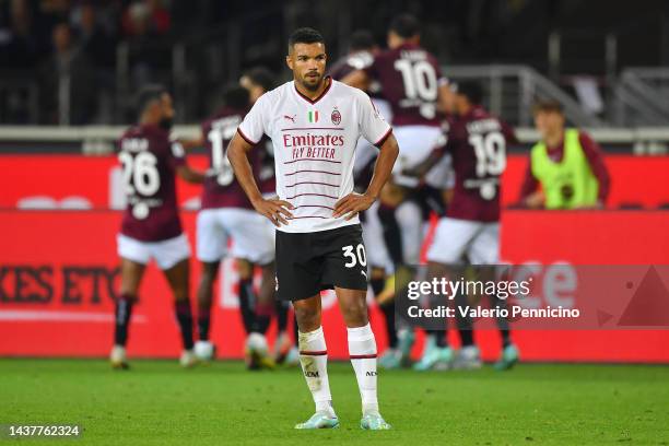
M293 204L284 200L266 199L258 189L254 171L248 161L247 153L254 146L246 142L244 138L236 133L227 148L227 160L232 165L235 177L244 189L249 201L256 211L269 219L274 226L289 224L286 219L291 219L293 214L289 211L293 209Z

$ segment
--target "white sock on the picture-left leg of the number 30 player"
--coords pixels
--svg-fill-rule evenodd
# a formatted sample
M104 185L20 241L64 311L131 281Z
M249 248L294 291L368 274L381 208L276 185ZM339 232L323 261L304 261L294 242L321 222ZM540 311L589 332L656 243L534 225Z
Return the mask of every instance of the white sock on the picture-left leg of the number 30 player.
M317 412L327 412L334 416L332 396L328 382L328 350L322 334L322 327L297 336L300 364L307 386L314 397Z

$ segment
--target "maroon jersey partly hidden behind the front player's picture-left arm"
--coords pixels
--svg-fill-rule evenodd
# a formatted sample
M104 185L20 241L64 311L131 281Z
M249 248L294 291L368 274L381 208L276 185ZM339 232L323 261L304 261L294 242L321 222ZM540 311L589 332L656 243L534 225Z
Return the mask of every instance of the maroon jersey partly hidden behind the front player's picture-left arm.
M209 155L209 165L213 175L208 176L202 189L202 209L212 208L245 208L253 209L244 189L237 183L230 161L227 146L242 124L246 109L224 108L202 124L204 146ZM249 152L249 161L254 168L254 176L262 193L273 192L274 161L270 156L267 145L271 141L263 138L257 146Z

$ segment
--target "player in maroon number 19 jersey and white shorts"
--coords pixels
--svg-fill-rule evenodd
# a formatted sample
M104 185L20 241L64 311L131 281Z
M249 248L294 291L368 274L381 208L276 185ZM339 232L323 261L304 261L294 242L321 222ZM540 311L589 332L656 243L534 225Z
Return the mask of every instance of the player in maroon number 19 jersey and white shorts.
M448 274L448 267L463 261L494 266L500 260L500 179L506 167L506 146L516 142L513 130L482 106L482 91L476 82L462 82L455 97L456 117L447 131L445 151L453 156L455 189L439 220L427 251L429 275ZM439 151L421 167L429 172L439 157ZM500 301L496 300L495 301ZM502 305L502 302L493 302ZM518 361L518 349L512 343L508 321L497 320L502 334L502 357L495 368L510 368ZM471 330L460 330L462 349L456 367L480 366L479 349ZM447 345L427 345L422 368L437 367L453 359ZM442 364L448 366L448 364Z

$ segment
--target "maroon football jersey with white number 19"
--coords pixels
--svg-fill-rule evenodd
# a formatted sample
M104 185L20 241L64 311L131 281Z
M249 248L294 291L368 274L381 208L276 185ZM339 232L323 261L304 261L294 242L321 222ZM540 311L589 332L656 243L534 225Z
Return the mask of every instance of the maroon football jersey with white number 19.
M456 183L446 216L500 220L501 176L506 168L506 146L516 142L514 131L482 107L474 107L453 119L447 134Z

